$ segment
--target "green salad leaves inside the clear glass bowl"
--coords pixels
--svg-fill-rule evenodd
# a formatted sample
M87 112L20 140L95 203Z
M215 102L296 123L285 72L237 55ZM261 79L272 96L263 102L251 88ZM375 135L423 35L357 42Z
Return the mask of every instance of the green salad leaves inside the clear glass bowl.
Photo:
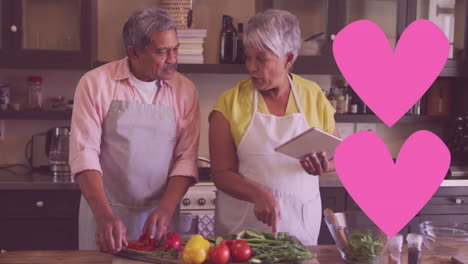
M376 260L384 247L384 243L372 236L369 229L353 230L348 235L349 247L343 250L347 259L357 262L371 262Z

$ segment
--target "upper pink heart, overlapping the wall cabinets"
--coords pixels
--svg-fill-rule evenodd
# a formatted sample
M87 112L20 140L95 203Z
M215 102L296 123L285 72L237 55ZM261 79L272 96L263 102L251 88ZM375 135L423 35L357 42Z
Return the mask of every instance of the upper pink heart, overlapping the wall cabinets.
M343 76L389 127L429 89L448 53L447 37L428 20L411 23L395 52L379 26L368 20L349 24L333 42Z

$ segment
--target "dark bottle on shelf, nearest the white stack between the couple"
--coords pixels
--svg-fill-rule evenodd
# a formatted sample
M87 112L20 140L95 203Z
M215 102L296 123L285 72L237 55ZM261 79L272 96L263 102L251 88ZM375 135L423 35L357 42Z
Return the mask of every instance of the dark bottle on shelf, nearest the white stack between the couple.
M221 63L236 63L237 59L237 31L232 24L232 17L223 15L221 30Z

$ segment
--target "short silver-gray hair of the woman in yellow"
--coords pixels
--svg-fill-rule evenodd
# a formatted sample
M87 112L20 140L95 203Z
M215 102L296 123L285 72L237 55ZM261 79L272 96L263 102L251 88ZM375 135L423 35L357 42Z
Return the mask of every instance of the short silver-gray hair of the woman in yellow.
M296 60L301 48L301 29L296 16L285 10L269 9L257 13L248 24L244 45L249 44L262 51L271 51L278 58L289 52Z

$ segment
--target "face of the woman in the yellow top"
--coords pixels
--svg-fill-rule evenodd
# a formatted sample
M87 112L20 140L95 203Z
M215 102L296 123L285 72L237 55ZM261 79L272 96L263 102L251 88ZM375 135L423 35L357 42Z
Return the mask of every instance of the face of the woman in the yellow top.
M280 59L271 51L261 51L251 45L245 46L244 53L245 66L257 90L267 91L281 85L289 69L286 58Z

